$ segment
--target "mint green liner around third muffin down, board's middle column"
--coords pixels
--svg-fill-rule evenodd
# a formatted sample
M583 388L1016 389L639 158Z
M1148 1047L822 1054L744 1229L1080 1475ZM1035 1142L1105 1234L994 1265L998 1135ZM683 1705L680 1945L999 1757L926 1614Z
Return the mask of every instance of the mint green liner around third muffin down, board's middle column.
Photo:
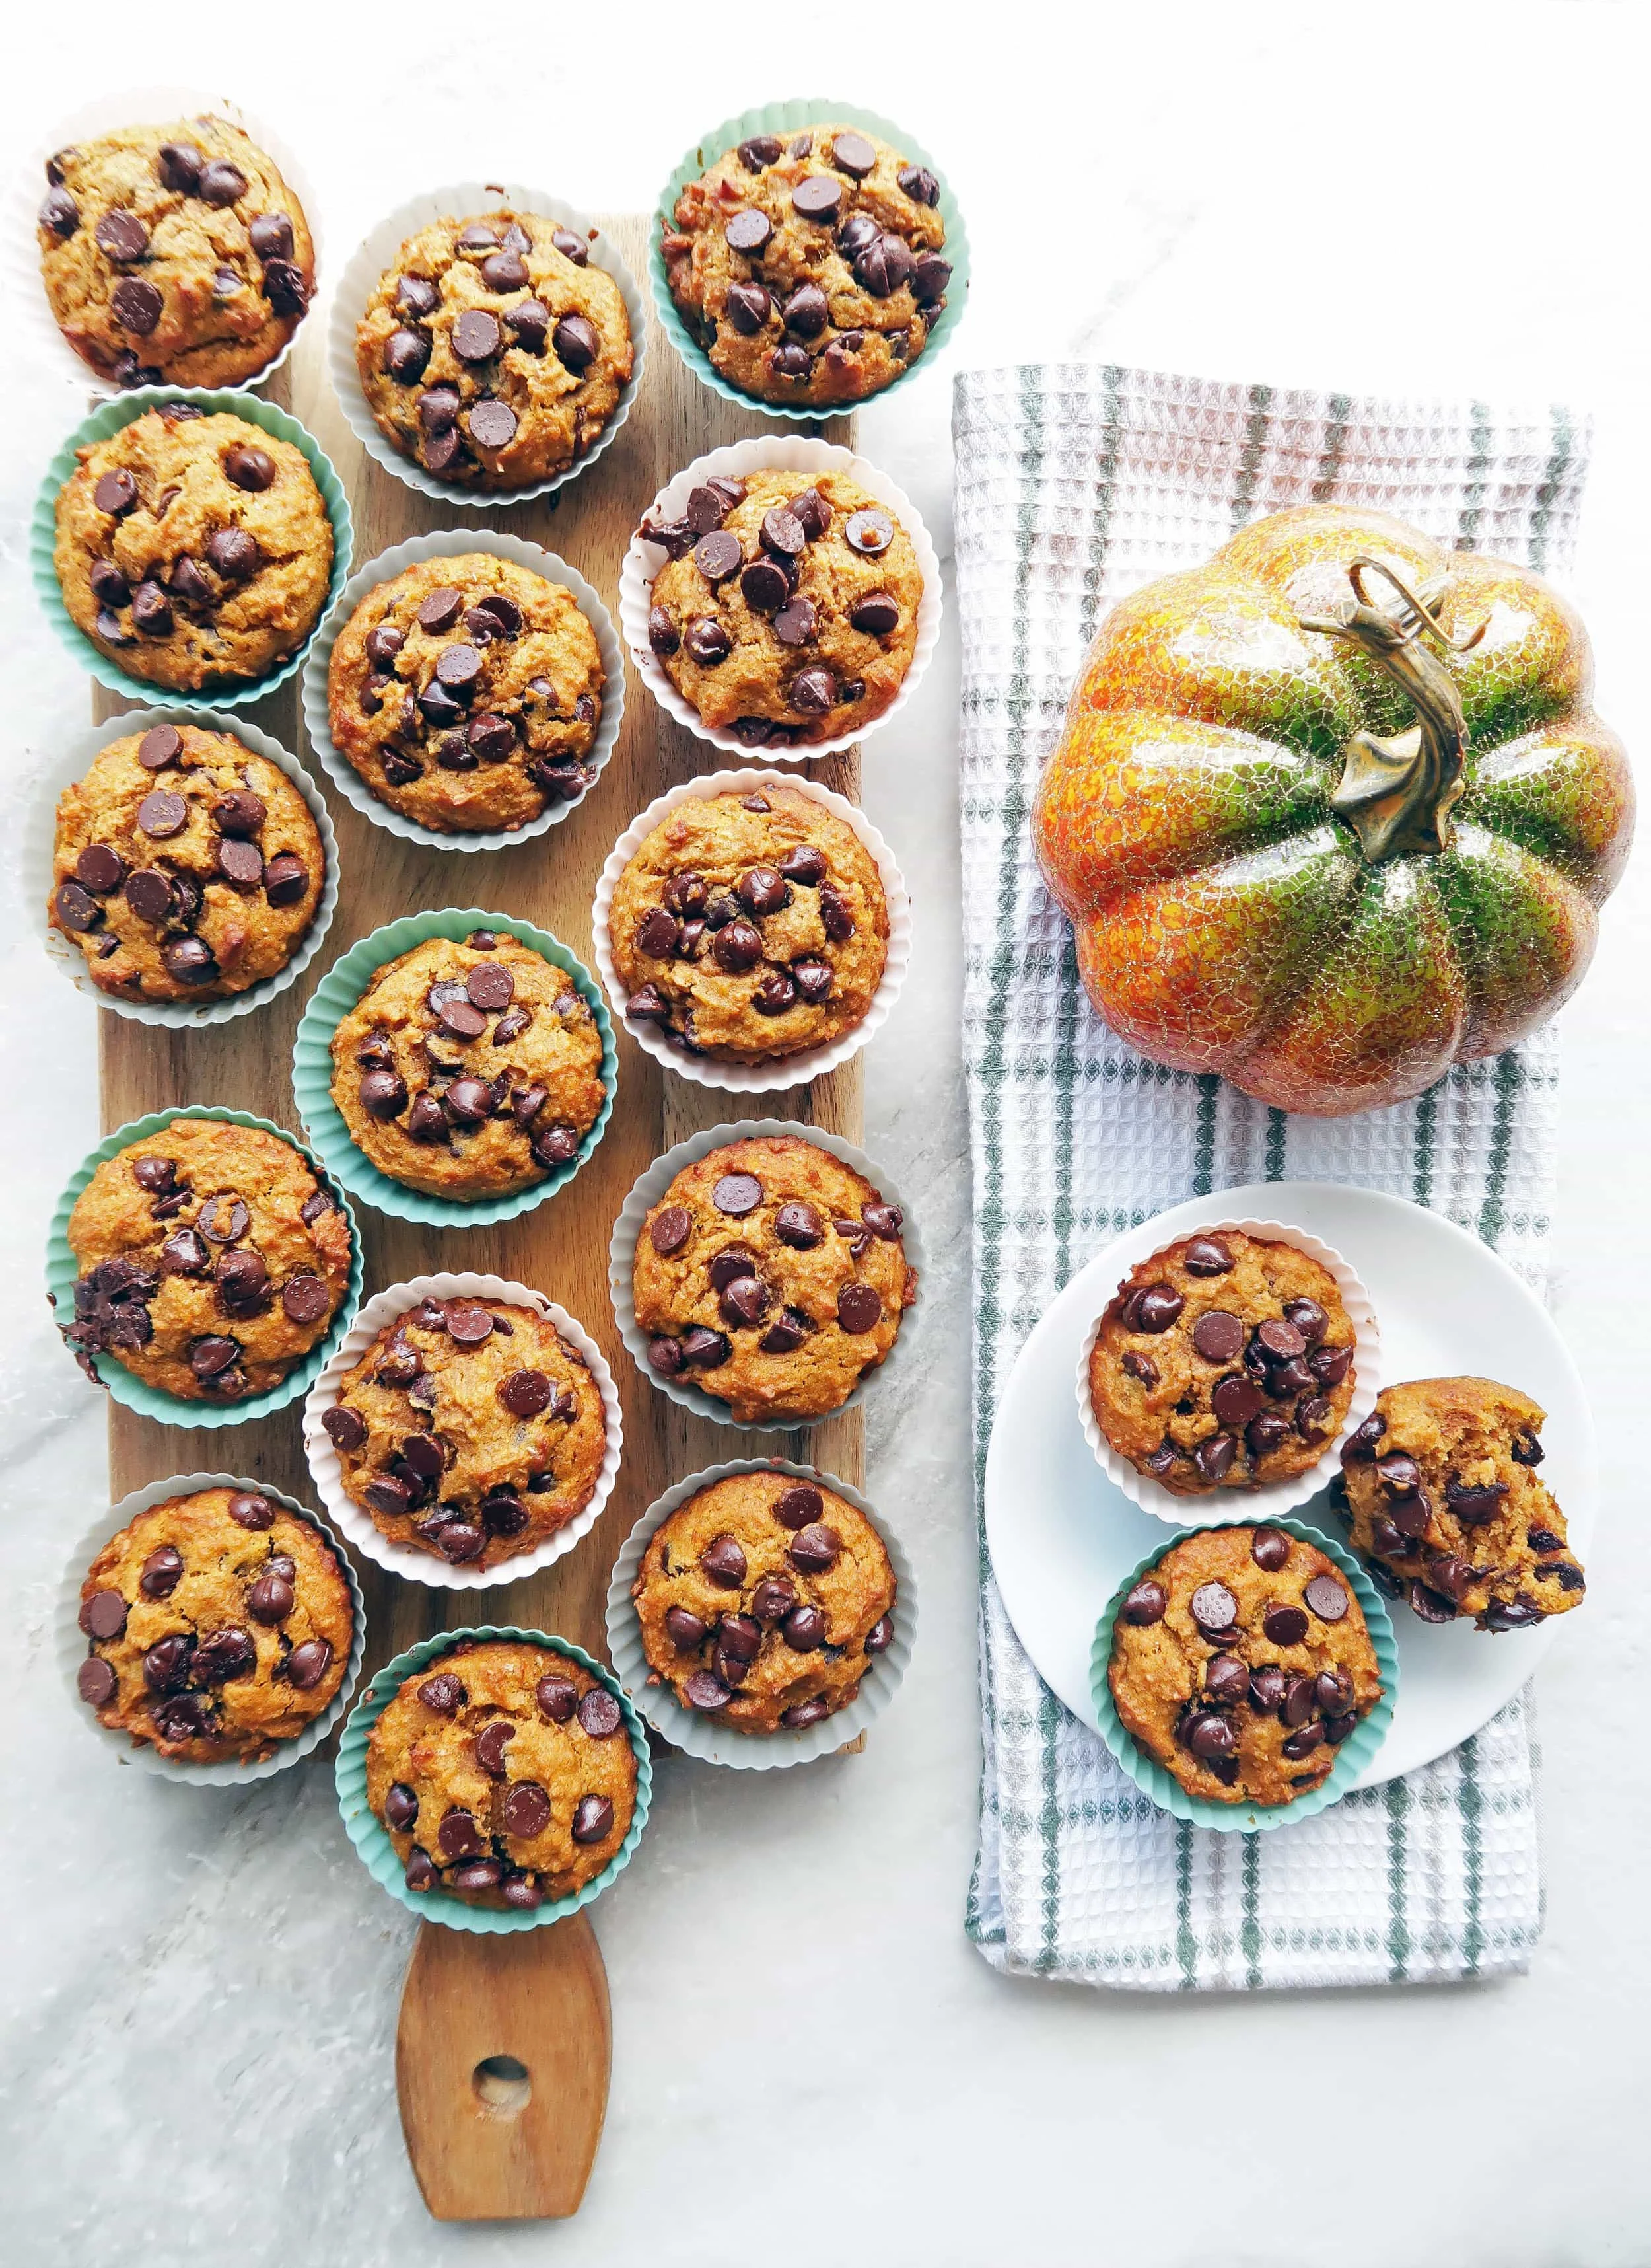
M603 1102L596 1111L594 1125L578 1145L578 1157L572 1157L567 1166L560 1166L542 1182L533 1182L528 1188L517 1188L510 1198L476 1198L472 1202L463 1202L460 1198L426 1198L420 1188L392 1182L388 1173L379 1173L372 1159L356 1148L342 1111L331 1095L331 1041L349 1009L356 1000L361 1000L376 968L383 968L386 962L426 943L431 937L451 937L454 941L460 941L469 937L472 930L508 930L513 937L519 937L524 946L533 946L533 950L544 955L547 962L553 962L562 975L574 980L585 1005L596 1018L596 1030L601 1032ZM297 1114L304 1123L304 1132L320 1150L333 1179L342 1182L352 1195L363 1198L381 1213L395 1213L397 1220L420 1220L431 1229L485 1229L492 1227L494 1220L515 1220L517 1213L528 1213L535 1204L544 1204L544 1200L553 1198L558 1188L567 1188L603 1136L608 1118L612 1116L617 1084L619 1055L612 1043L612 1021L608 1018L608 1005L590 968L585 968L585 964L567 950L560 937L551 937L549 930L535 930L531 921L517 921L515 914L488 914L476 905L449 905L440 914L406 914L401 921L388 921L381 930L374 930L372 937L363 937L340 962L333 962L320 980L308 998L308 1005L304 1007L304 1014L299 1016L297 1039L293 1041L293 1095L297 1100Z

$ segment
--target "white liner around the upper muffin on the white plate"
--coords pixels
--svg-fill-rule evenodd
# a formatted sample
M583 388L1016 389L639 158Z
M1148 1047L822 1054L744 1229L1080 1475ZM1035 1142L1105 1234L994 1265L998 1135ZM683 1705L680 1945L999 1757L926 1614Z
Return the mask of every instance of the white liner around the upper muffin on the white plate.
M1100 1259L1107 1261L1107 1272L1116 1275L1120 1284L1132 1268L1143 1261L1157 1259L1159 1252L1168 1252L1166 1243L1154 1241L1157 1222L1148 1220L1127 1236L1120 1236L1116 1245L1109 1245ZM1306 1472L1297 1472L1290 1481L1272 1481L1265 1488L1209 1488L1197 1495L1175 1497L1168 1488L1161 1488L1152 1474L1136 1472L1136 1467L1111 1447L1107 1436L1100 1431L1100 1420L1089 1399L1089 1356L1095 1347L1095 1336L1104 1320L1107 1306L1116 1295L1116 1284L1109 1284L1098 1293L1095 1320L1089 1331L1084 1331L1084 1345L1077 1352L1077 1417L1084 1427L1084 1440L1095 1452L1095 1463L1114 1481L1132 1504L1138 1504L1143 1513L1152 1513L1154 1520L1166 1520L1175 1529L1204 1526L1222 1529L1243 1520L1265 1520L1270 1513L1293 1513L1302 1504L1311 1504L1329 1486L1329 1481L1340 1470L1336 1465L1336 1442L1363 1424L1370 1411L1377 1406L1377 1395L1381 1393L1381 1331L1377 1329L1377 1313L1370 1304L1370 1293L1363 1281L1354 1275L1352 1266L1327 1245L1320 1236L1311 1236L1306 1229L1295 1229L1281 1220L1200 1220L1195 1229L1184 1229L1170 1243L1184 1243L1188 1236L1220 1236L1222 1229L1236 1229L1241 1236L1256 1236L1279 1245L1295 1245L1297 1252L1306 1252L1315 1259L1320 1268L1329 1268L1336 1277L1336 1288L1340 1290L1343 1306L1347 1309L1347 1320L1354 1327L1354 1397L1347 1404L1347 1420L1338 1433L1324 1436L1324 1447L1315 1465ZM1093 1266L1093 1263L1091 1263Z

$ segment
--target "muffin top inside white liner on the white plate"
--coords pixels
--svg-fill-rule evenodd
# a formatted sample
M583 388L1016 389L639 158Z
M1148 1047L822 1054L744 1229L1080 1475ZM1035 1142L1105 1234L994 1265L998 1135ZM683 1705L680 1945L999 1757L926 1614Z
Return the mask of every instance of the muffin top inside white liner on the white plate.
M1220 1229L1129 1270L1095 1331L1089 1399L1118 1456L1172 1497L1265 1488L1340 1433L1354 1352L1329 1268Z

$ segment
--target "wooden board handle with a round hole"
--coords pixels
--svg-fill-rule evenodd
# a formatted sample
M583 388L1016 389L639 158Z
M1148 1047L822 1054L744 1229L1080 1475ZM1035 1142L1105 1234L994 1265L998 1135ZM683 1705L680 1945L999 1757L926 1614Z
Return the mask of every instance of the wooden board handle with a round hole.
M395 2034L401 2134L435 2220L565 2220L608 2114L608 1971L585 1914L513 1937L420 1928Z

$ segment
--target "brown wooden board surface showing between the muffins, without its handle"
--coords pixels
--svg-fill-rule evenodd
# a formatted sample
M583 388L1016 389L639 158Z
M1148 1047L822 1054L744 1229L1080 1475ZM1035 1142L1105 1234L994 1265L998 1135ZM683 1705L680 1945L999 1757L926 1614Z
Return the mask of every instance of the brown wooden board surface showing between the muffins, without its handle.
M633 274L640 277L646 265L646 222L619 215L603 227L612 231ZM356 567L408 535L447 526L508 528L572 560L603 594L615 619L619 560L655 490L705 449L773 431L762 417L735 411L698 386L653 329L630 417L590 474L560 497L472 508L435 503L372 463L331 395L315 327L308 327L308 336L270 390L318 435L338 467L356 519ZM850 420L826 420L819 431L828 440L853 440ZM122 705L109 694L98 694L100 717ZM259 1111L297 1132L290 1059L304 1000L324 968L358 937L408 907L476 905L506 919L515 914L551 930L590 966L590 905L596 873L615 837L671 782L728 764L717 748L664 717L630 671L619 744L578 810L549 835L515 850L469 855L401 841L345 803L306 748L295 685L247 714L304 758L327 796L340 855L333 928L315 966L290 991L231 1025L206 1032L156 1032L120 1016L102 1016L104 1129L177 1102L220 1102ZM828 758L807 769L846 796L860 792L857 753ZM864 1479L864 1429L857 1411L791 1436L751 1433L694 1417L637 1374L608 1300L612 1220L635 1177L660 1150L698 1127L733 1118L805 1118L857 1141L860 1064L853 1061L805 1089L739 1098L667 1077L624 1030L617 1036L615 1114L594 1157L560 1198L519 1220L469 1232L424 1229L390 1220L367 1204L356 1207L365 1241L367 1295L433 1268L490 1270L547 1290L601 1343L619 1383L626 1431L619 1483L608 1510L565 1560L524 1583L490 1590L485 1599L485 1619L556 1631L599 1656L606 1656L603 1597L612 1558L635 1517L671 1479L733 1456L773 1454L819 1463L850 1483ZM109 1470L116 1497L168 1472L220 1465L311 1501L313 1490L299 1445L299 1406L252 1424L206 1431L161 1427L111 1404ZM358 1560L356 1572L367 1599L367 1674L431 1631L479 1619L476 1601L463 1592L399 1583L367 1560Z

